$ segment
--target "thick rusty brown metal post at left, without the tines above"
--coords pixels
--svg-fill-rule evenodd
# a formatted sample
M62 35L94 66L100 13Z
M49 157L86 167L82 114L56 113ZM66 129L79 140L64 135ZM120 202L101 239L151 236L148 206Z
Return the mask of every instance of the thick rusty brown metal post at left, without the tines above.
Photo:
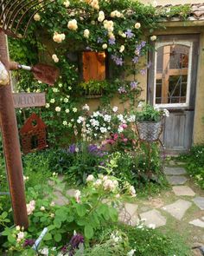
M0 61L9 67L6 36L0 31ZM0 84L0 123L3 137L3 151L10 185L10 196L16 225L29 226L22 174L22 159L18 138L16 114L10 83Z

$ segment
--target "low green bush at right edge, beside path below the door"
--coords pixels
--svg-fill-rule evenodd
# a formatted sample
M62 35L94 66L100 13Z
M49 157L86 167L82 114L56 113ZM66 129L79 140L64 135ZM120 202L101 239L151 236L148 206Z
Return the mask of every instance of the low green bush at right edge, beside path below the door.
M204 189L204 145L194 146L189 154L182 154L179 159L186 162L188 173Z

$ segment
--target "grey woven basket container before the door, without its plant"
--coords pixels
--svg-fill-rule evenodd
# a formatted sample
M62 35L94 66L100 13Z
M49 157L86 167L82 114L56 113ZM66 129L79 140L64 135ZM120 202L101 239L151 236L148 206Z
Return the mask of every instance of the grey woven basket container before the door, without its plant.
M162 121L137 122L137 132L142 141L157 141L162 133Z

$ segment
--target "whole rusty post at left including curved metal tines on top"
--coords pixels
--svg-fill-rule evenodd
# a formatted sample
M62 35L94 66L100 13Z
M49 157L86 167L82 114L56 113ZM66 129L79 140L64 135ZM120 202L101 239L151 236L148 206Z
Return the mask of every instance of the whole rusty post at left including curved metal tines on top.
M16 123L16 114L8 70L6 35L26 36L35 13L44 10L55 0L0 0L0 62L5 69L0 72L0 124L3 136L3 153L6 162L10 196L16 225L29 226L22 175L22 160ZM5 35L6 34L6 35Z

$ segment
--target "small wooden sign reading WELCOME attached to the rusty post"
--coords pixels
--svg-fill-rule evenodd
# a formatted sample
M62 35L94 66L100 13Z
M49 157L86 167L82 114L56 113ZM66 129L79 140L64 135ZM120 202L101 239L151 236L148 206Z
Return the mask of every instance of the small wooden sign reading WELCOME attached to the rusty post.
M34 108L46 105L45 93L13 94L15 108Z

